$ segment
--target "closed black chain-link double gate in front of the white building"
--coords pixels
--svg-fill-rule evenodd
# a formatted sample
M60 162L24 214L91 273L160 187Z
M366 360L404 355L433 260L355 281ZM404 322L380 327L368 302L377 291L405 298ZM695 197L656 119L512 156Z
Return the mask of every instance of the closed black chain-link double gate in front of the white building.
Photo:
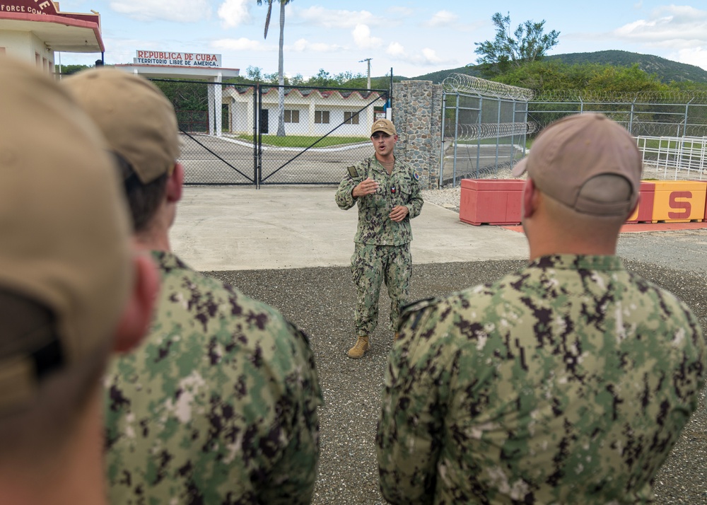
M390 105L387 90L154 82L177 110L188 185L338 184Z

